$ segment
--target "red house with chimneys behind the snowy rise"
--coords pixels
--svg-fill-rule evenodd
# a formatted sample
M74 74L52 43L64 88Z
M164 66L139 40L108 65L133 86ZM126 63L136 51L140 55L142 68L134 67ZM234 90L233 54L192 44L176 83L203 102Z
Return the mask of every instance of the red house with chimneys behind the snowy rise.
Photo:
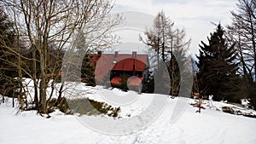
M148 55L132 54L102 54L99 51L91 55L91 65L96 66L95 78L98 83L120 84L121 76L130 77L128 84L137 86L143 84L148 78ZM134 77L132 77L134 76Z

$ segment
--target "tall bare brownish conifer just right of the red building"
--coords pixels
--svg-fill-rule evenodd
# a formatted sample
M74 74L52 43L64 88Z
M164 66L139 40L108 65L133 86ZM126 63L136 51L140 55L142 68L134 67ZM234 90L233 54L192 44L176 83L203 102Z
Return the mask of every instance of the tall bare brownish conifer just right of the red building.
M186 52L189 49L190 40L186 40L184 30L175 29L174 22L160 11L154 18L154 26L146 30L146 39L140 36L140 39L153 49L156 55L153 59L157 60L159 66L162 60L168 69L171 78L170 95L177 96L184 75L184 70L180 69L181 65L186 63Z

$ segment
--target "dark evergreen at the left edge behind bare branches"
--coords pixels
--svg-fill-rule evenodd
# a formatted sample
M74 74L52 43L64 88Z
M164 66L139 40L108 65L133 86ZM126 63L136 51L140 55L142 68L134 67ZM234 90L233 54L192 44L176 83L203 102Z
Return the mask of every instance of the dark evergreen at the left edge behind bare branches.
M13 90L17 86L14 79L17 77L17 70L9 65L16 61L12 51L15 50L13 25L9 16L4 13L3 9L0 9L0 94L8 96L13 95Z

